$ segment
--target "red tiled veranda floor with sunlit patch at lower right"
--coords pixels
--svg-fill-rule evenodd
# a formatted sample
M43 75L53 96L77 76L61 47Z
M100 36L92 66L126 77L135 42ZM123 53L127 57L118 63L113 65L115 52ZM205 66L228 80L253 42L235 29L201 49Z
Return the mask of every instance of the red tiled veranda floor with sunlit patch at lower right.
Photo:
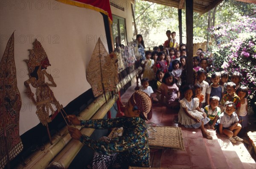
M134 93L136 85L133 84L121 96L123 104L126 104ZM208 130L213 140L207 140L202 137L200 129L186 129L175 123L177 116L178 110L172 110L163 104L153 104L153 116L148 122L153 122L158 126L181 127L185 150L151 149L151 167L256 168L255 161L242 143L232 144L227 138L220 139L213 130Z

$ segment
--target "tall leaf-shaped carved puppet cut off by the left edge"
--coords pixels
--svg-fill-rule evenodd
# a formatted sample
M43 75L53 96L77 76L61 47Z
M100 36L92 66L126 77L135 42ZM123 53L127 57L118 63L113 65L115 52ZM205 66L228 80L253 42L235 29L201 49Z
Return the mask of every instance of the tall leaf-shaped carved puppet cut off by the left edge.
M19 135L20 108L13 32L0 62L0 169L10 167L8 163L23 149Z

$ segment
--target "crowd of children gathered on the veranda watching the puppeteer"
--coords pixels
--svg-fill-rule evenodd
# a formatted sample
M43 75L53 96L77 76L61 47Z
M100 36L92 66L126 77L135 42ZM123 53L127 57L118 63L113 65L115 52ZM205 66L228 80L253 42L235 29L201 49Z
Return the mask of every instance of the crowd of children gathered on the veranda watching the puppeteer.
M170 51L170 55L172 53ZM207 59L195 56L194 85L182 85L180 76L186 69L186 56L175 56L172 60L172 55L169 58L164 52L151 54L149 51L145 52L145 56L146 59L142 62L145 69L140 90L151 96L153 102L180 109L178 122L187 128L201 128L203 136L207 139L212 139L212 136L205 128L218 130L222 137L228 136L232 143L243 141L237 134L247 127L248 123L248 88L239 85L242 80L241 73L234 72L231 82L227 82L227 72L215 72L209 78L210 83L206 82ZM156 59L156 56L159 59ZM172 68L168 66L169 62ZM198 62L203 64L199 66Z

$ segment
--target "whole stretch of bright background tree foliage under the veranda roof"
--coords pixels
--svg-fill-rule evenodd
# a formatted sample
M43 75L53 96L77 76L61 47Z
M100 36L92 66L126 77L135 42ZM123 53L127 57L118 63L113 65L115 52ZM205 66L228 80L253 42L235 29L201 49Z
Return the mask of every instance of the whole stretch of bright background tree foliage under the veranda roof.
M146 47L163 45L164 40L167 38L165 34L167 30L176 31L178 40L177 8L136 0L134 10L137 33L143 35ZM224 0L215 7L215 13L213 10L210 11L211 23L209 27L221 25L221 23L231 23L238 20L240 16L249 15L253 17L255 16L256 5L236 0ZM182 10L182 15L182 34L186 36L185 10ZM208 17L209 13L199 16L198 13L194 12L194 42L199 42L197 40L206 41L207 36L211 36L208 31Z

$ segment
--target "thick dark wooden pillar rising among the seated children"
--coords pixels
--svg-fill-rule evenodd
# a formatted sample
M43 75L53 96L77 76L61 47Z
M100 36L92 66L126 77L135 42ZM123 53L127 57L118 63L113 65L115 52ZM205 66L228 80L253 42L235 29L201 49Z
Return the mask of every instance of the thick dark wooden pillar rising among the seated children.
M186 0L186 84L192 85L193 81L193 0Z

